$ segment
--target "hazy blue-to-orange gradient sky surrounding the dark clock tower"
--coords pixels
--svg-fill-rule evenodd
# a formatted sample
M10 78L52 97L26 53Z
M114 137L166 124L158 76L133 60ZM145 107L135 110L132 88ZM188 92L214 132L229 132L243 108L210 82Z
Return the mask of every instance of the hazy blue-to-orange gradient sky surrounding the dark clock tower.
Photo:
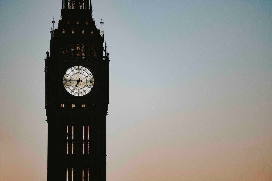
M92 0L109 52L108 181L272 180L272 1ZM0 0L0 181L47 180L61 0Z

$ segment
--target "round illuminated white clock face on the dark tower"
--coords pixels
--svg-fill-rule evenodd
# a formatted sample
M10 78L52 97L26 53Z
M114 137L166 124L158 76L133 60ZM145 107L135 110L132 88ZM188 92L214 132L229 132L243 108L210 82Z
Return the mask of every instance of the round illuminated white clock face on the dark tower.
M74 66L69 68L63 76L65 90L74 96L84 96L93 87L94 78L89 68Z

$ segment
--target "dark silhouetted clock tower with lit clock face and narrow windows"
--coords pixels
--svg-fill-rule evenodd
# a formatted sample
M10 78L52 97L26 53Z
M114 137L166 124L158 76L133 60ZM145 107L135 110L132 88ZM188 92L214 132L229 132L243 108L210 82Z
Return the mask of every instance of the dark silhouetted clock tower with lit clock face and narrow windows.
M45 59L48 181L106 180L108 52L89 0L63 0ZM103 22L100 22L103 25Z

